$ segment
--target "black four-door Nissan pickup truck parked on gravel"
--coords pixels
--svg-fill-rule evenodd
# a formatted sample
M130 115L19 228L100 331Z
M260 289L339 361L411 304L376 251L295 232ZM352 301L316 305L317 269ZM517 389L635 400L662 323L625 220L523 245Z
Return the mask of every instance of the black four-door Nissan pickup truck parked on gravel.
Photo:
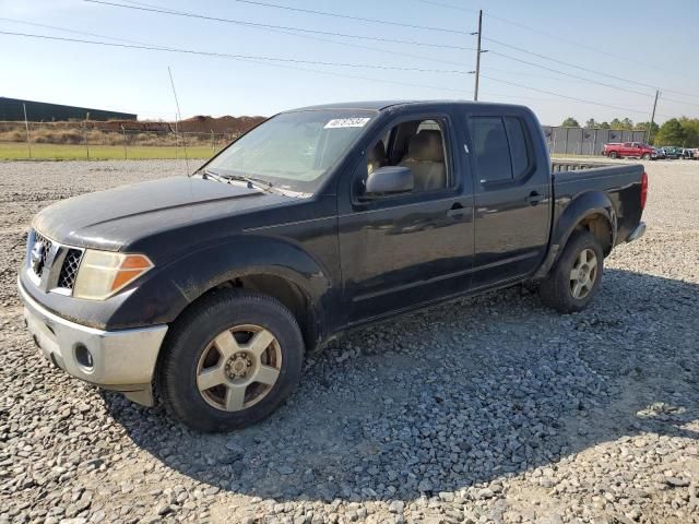
M68 373L201 430L241 428L355 326L517 284L581 310L604 258L643 234L647 192L641 165L552 165L525 107L308 107L190 177L42 211L19 289Z

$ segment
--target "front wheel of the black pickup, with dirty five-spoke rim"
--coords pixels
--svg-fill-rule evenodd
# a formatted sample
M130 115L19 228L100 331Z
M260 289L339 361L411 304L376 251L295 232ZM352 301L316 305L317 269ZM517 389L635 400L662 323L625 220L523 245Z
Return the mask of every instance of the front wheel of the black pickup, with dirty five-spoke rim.
M245 428L296 389L304 348L296 319L280 301L215 291L173 325L158 361L157 391L166 409L193 429Z

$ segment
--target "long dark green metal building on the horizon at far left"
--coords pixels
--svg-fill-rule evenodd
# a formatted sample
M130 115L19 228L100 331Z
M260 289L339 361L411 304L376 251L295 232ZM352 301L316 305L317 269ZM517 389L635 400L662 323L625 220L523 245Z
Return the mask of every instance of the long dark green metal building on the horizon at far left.
M131 112L108 111L88 107L62 106L45 102L21 100L17 98L0 97L0 120L24 120L32 122L51 122L55 120L137 120L138 115Z

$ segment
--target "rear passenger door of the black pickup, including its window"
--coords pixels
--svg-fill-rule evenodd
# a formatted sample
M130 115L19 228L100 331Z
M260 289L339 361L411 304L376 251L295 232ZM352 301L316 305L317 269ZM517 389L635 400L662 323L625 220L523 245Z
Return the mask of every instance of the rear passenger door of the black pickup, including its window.
M475 186L473 287L533 273L547 248L550 221L548 155L536 119L508 114L466 117ZM535 142L538 141L538 142Z

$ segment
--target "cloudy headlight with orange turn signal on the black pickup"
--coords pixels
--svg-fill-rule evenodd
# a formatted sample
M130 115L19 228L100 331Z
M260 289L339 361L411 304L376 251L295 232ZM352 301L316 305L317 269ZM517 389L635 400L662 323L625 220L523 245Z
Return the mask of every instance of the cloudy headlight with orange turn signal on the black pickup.
M144 254L86 249L78 270L73 297L104 300L153 267Z

